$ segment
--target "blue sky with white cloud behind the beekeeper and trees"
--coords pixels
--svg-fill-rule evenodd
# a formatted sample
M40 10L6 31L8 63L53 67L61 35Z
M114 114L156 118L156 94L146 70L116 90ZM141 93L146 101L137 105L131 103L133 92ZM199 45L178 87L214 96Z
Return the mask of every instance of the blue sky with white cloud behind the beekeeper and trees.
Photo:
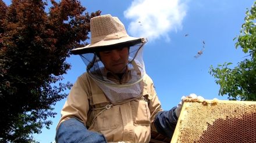
M218 96L219 85L208 73L209 67L225 62L236 65L246 56L241 49L235 49L233 38L239 35L246 8L251 8L254 1L89 0L81 3L87 12L101 10L101 14L119 17L131 36L148 37L144 48L145 69L154 81L163 109L176 106L182 96L190 93L206 99L227 100L227 96ZM201 56L195 58L203 45ZM86 66L79 56L71 56L67 62L72 68L64 76L65 81L74 83ZM58 115L51 119L51 129L35 134L37 141L54 141L64 103L65 100L57 102Z

